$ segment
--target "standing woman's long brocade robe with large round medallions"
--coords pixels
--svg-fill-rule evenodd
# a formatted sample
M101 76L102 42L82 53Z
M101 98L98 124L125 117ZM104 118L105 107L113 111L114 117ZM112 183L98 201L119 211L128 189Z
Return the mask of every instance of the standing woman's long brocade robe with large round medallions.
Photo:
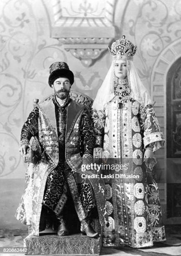
M123 103L119 108L118 103ZM163 146L163 134L153 106L143 108L137 101L113 98L102 110L93 110L96 146L106 158L127 164L122 174L137 178L105 180L109 226L103 228L103 246L152 246L164 241L158 186L143 164L147 146L153 151ZM133 176L132 176L133 177Z

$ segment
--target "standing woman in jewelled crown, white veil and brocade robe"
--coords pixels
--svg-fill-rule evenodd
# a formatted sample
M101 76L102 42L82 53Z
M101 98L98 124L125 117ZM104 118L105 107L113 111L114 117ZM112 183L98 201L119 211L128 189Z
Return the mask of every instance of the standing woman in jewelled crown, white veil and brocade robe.
M133 64L136 46L123 36L109 50L113 62L93 102L96 145L103 148L104 157L127 166L105 185L110 225L103 229L103 245L152 246L165 240L152 175L153 151L163 146L164 138Z

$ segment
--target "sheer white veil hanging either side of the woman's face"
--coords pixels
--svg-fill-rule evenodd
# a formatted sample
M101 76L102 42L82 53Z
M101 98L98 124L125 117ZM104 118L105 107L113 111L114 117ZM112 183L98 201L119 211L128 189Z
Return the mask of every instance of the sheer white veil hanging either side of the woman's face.
M133 100L138 101L143 107L146 107L148 104L153 104L151 97L149 95L148 90L144 87L141 79L138 76L138 72L133 64L133 61L127 61L127 76L128 81L130 82L131 88L131 98ZM108 73L98 90L96 98L93 102L93 109L96 110L103 110L104 105L111 101L114 95L114 88L113 88L113 78L114 78L114 61L112 61L111 67L108 70Z

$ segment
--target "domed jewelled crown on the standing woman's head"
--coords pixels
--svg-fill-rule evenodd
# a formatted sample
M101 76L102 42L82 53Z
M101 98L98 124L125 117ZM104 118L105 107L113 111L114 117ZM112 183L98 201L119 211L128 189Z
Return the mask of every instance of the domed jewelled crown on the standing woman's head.
M125 39L125 36L122 36L122 39L114 41L111 48L108 46L108 49L114 59L133 60L137 46L134 46L130 41Z

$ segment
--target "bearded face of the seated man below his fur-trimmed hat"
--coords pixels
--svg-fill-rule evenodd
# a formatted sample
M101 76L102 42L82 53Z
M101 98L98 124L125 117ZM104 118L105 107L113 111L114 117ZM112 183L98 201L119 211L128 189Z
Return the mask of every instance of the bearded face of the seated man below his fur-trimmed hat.
M64 100L70 91L70 80L66 77L59 77L53 82L51 87L54 90L55 95L61 100Z

